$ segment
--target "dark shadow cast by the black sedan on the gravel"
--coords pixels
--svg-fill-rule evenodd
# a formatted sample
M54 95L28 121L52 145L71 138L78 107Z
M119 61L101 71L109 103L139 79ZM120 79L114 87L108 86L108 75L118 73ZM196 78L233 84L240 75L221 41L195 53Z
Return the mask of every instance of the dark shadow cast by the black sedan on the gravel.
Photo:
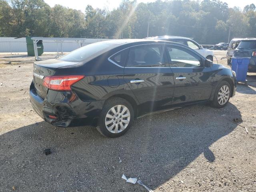
M12 185L20 191L146 191L122 180L125 174L156 189L200 154L214 162L211 145L236 128L230 120L238 116L231 103L190 106L135 120L114 139L90 126L23 126L0 135L0 185L4 191ZM46 156L46 148L52 154Z

